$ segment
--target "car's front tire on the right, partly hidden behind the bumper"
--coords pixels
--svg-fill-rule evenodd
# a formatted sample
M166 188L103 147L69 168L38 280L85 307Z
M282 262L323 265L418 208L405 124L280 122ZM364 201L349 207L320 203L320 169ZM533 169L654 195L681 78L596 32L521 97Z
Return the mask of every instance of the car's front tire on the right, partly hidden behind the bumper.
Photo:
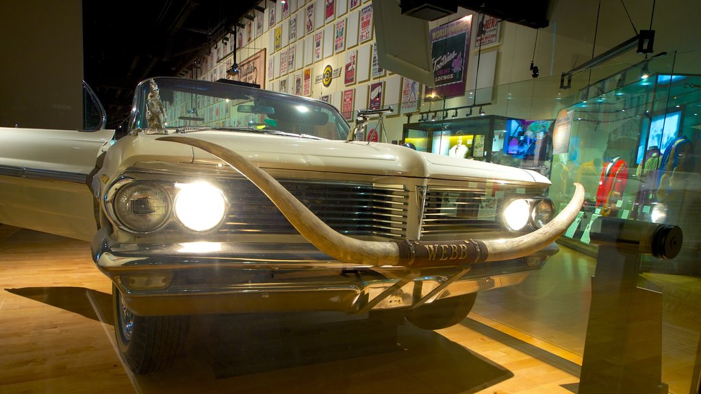
M424 304L404 313L411 324L424 330L440 330L463 321L475 305L477 293L463 294Z

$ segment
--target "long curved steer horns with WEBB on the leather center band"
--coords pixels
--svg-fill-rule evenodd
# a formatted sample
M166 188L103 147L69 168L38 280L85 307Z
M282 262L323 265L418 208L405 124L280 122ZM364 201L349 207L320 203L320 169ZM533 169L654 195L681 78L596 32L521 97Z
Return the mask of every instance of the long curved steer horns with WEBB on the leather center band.
M524 257L562 236L577 216L584 201L584 187L581 184L575 184L576 190L572 200L557 217L543 228L517 238L440 242L358 240L334 231L267 172L230 149L189 137L167 136L158 137L156 140L179 142L197 147L222 159L263 191L292 226L310 243L335 259L353 264L426 268Z

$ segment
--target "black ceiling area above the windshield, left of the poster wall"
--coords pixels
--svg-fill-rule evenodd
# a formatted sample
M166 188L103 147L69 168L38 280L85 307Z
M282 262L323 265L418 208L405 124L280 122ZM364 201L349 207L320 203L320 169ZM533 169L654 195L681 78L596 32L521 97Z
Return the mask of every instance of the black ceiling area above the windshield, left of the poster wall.
M258 0L83 1L83 75L116 128L134 88L175 76L221 38Z

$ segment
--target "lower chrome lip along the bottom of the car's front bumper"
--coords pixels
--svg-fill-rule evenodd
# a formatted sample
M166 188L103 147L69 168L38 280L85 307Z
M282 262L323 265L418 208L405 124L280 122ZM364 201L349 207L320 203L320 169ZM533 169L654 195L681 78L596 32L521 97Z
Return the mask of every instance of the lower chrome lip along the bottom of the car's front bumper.
M134 290L120 279L116 284L125 304L139 315L193 315L212 313L250 313L261 311L339 311L362 313L369 310L408 308L418 297L430 294L431 301L461 294L507 287L522 283L531 271L506 273L486 278L463 277L442 289L447 276L423 276L395 289L397 280L366 280L353 283L343 277L325 278L309 283L252 283L238 285L211 285L197 287L181 285L165 290ZM383 292L396 290L389 299ZM379 302L374 302L379 299Z

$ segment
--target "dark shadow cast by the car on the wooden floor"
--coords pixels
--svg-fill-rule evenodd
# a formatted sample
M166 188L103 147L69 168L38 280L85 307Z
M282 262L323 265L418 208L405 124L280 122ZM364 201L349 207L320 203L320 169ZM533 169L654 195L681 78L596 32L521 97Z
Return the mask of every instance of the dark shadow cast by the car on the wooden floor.
M83 287L8 292L112 324L111 296ZM111 330L105 330L111 334ZM109 338L113 342L112 338ZM137 392L475 393L513 374L400 315L198 315L165 372L135 376Z

